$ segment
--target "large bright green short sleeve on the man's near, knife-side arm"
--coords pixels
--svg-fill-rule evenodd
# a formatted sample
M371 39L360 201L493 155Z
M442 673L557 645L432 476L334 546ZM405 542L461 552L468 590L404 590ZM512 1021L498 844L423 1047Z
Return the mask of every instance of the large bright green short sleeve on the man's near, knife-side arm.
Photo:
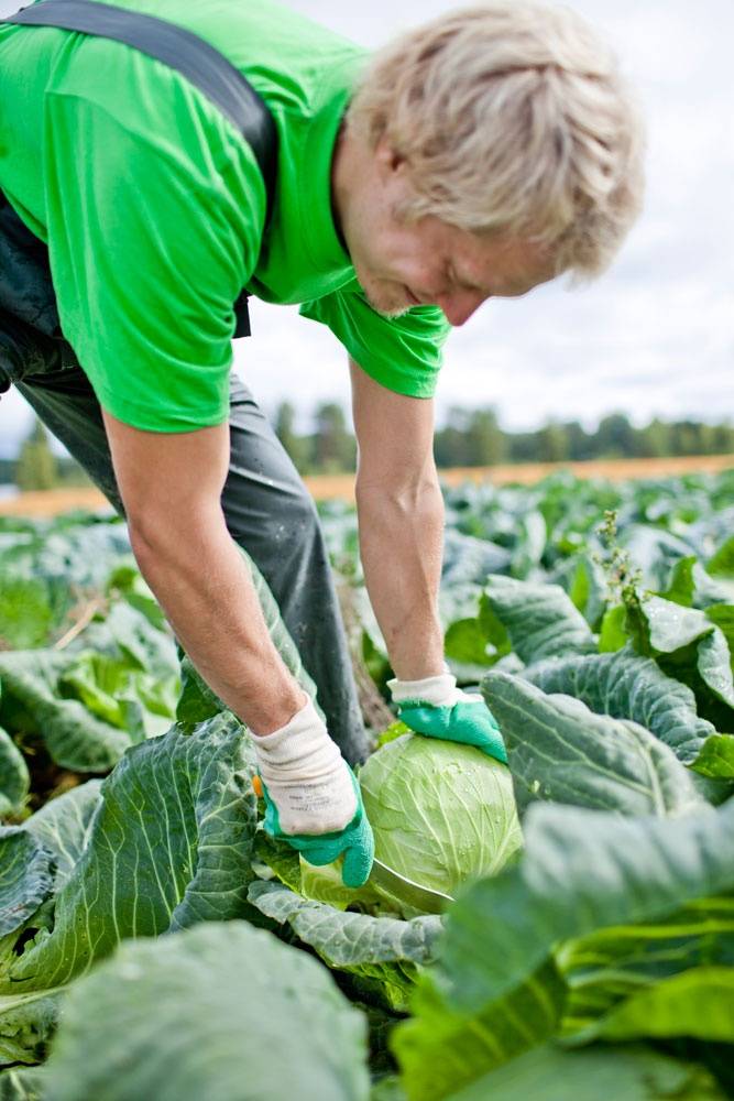
M177 78L176 78L177 79ZM182 89L194 97L194 89ZM228 414L233 303L254 268L264 189L239 135L135 132L108 107L48 97L47 243L62 329L101 405L152 432ZM219 130L217 129L219 128ZM211 138L213 137L213 141Z

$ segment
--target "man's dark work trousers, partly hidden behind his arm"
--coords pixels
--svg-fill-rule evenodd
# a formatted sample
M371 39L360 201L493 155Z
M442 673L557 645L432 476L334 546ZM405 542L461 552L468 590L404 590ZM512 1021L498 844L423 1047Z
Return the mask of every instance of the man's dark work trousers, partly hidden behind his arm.
M0 192L0 391L13 383L118 512L101 411L58 325L46 250ZM232 377L227 526L267 581L316 682L329 733L364 760L349 650L314 502L252 394ZM202 564L206 568L206 564Z

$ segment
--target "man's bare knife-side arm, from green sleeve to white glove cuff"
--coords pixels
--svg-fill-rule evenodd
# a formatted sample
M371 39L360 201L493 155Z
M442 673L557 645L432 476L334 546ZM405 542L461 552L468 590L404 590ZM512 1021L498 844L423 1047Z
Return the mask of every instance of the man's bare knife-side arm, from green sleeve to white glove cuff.
M141 432L105 414L138 564L211 688L254 733L291 720L306 696L270 637L220 505L229 426Z

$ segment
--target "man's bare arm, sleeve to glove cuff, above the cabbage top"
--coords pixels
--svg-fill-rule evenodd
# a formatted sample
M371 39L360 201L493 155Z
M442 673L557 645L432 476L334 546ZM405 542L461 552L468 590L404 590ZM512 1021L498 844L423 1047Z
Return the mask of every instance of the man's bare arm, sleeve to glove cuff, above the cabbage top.
M443 502L434 462L434 408L393 393L352 360L359 444L357 509L364 578L401 680L443 668L438 588Z

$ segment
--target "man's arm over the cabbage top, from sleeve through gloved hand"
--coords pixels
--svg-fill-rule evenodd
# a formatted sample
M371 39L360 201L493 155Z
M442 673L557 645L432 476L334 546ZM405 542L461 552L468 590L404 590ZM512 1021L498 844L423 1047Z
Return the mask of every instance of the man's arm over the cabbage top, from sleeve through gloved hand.
M357 509L370 600L387 643L393 702L410 730L475 745L507 761L481 696L443 665L438 588L443 501L434 462L434 411L379 385L350 360L359 443Z

